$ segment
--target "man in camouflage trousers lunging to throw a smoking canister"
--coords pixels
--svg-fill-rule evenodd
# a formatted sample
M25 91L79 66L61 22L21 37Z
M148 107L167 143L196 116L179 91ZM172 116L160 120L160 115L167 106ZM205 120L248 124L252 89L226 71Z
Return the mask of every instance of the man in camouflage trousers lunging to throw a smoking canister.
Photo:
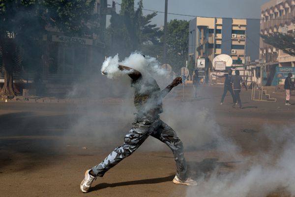
M163 112L162 99L172 88L182 83L181 78L175 78L170 85L161 91L157 82L151 76L143 76L138 70L127 66L119 65L118 69L128 74L132 79L131 84L135 90L134 105L137 109L135 120L132 128L124 137L124 143L115 148L100 164L86 170L85 178L80 185L81 191L83 193L89 192L91 183L97 176L103 177L109 169L130 156L149 135L164 142L172 150L177 167L173 182L176 184L197 185L196 181L187 177L182 142L176 132L159 118L159 114Z

